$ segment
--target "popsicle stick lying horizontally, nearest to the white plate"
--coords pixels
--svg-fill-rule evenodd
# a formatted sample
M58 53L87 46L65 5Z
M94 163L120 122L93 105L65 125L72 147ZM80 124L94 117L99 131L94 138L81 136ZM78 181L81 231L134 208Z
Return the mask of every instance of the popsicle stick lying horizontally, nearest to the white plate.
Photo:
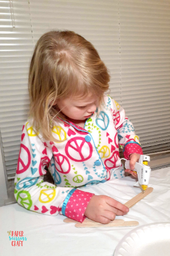
M109 224L101 224L99 222L94 223L76 223L76 228L107 228L107 227L114 227L114 226L137 226L139 225L138 221L125 221L124 223L114 223L110 222Z

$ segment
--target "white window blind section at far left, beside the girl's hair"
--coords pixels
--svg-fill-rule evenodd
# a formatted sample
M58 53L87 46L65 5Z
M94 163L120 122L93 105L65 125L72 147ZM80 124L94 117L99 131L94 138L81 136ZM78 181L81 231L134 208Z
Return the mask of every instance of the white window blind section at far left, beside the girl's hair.
M27 0L11 4L10 1L0 1L0 10L0 129L6 179L9 181L15 176L22 126L27 119L28 67L33 40Z

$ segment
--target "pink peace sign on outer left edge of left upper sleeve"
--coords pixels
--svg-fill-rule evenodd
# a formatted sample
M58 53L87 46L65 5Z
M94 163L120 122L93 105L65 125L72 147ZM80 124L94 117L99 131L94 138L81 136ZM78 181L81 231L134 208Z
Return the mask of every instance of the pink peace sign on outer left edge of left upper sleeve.
M28 167L31 163L31 154L24 144L20 144L18 166L16 169L16 174L22 174L28 170Z

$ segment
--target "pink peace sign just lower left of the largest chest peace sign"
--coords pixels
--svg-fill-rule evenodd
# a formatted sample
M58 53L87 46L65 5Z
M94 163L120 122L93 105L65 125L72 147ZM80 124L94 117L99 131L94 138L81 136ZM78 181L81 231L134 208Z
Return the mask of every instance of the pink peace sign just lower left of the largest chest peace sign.
M59 153L54 155L54 158L57 171L61 172L61 174L68 174L71 169L69 159L67 159L65 155Z

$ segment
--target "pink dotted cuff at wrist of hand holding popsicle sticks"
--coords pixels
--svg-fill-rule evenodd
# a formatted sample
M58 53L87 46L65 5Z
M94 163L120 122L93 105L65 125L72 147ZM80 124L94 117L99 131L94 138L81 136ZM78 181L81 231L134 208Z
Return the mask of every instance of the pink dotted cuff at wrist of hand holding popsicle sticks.
M65 216L72 220L83 222L86 218L84 212L86 211L87 205L90 202L92 196L95 194L84 192L76 189L71 195L65 210Z

